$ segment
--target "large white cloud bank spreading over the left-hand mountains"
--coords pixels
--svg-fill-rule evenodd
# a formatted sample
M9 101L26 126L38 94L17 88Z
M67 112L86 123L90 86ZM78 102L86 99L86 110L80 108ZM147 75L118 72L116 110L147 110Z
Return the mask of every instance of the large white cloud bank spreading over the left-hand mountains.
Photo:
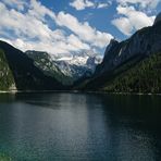
M39 3L38 3L39 4ZM37 5L38 7L38 5ZM50 29L48 25L41 22L41 18L45 18L45 15L48 14L54 17L53 13L46 8L37 8L38 13L41 12L41 16L37 16L38 14L36 10L29 9L27 14L22 14L15 10L9 10L3 3L0 3L0 30L1 35L9 37L10 30L15 35L15 38L10 35L8 41L12 42L15 47L25 50L44 50L49 51L51 53L67 53L70 51L79 51L84 49L89 49L87 45L83 44L81 40L78 41L78 47L76 48L74 45L70 44L69 37L65 36L64 32L61 29ZM30 39L37 39L32 41ZM82 44L81 44L82 42Z

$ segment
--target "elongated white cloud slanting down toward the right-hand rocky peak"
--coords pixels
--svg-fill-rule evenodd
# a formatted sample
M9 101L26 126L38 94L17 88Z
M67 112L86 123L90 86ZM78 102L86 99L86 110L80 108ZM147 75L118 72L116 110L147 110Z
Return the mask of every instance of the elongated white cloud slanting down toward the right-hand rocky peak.
M81 23L76 17L69 13L60 12L55 18L55 22L60 26L65 26L73 33L75 33L82 40L89 42L96 47L103 48L109 44L112 35L108 33L101 33L96 28L92 28L88 22Z

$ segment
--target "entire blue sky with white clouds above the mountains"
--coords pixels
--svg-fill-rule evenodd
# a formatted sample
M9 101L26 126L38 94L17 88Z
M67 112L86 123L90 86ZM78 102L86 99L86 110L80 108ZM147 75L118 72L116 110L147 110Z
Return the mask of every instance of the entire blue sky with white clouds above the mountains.
M0 0L0 39L23 51L103 54L160 11L161 0Z

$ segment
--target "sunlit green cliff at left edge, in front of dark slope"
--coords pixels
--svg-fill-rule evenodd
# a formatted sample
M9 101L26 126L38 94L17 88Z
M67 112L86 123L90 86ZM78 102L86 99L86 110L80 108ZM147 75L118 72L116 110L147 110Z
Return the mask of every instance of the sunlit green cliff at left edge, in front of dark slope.
M15 90L15 82L8 64L8 60L2 50L0 50L0 90Z

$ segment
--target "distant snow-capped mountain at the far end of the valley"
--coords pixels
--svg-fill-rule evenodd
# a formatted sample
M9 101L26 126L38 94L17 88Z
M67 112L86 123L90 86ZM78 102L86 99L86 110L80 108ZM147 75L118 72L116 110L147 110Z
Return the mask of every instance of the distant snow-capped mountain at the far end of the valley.
M82 52L77 54L71 54L70 57L53 58L54 64L60 71L73 81L78 79L85 74L92 74L96 65L101 62L101 57L89 52Z

